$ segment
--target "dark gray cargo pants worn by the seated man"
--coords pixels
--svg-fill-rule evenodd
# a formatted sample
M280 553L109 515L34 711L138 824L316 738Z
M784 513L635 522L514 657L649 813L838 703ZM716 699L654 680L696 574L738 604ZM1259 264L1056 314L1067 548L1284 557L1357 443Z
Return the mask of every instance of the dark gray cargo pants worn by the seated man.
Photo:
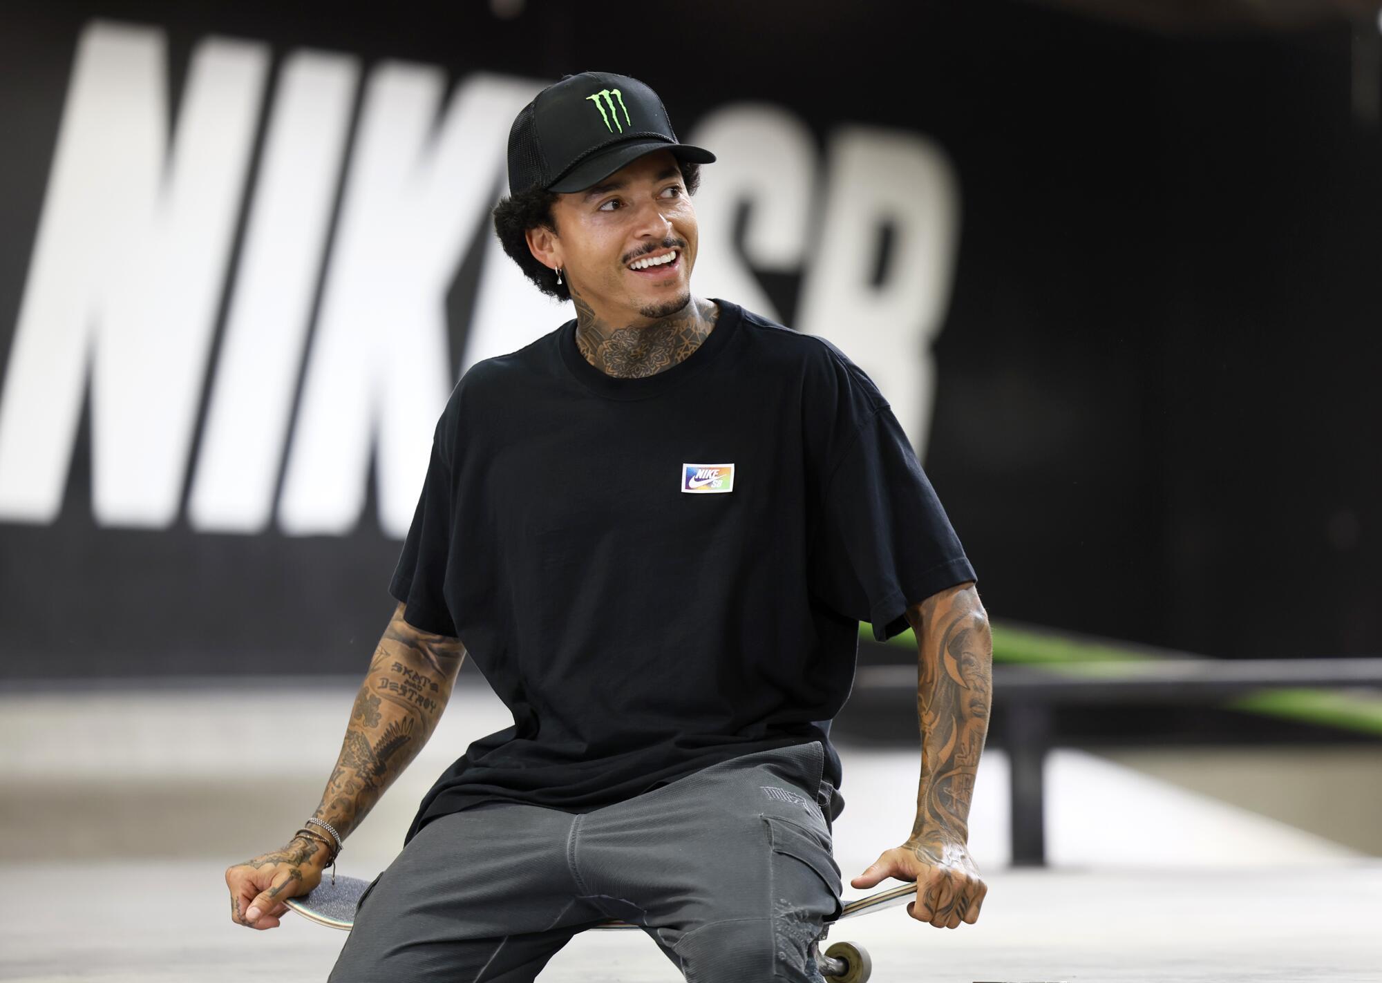
M586 815L486 802L417 833L361 900L330 983L520 983L578 932L637 922L690 983L822 976L840 910L820 741Z

